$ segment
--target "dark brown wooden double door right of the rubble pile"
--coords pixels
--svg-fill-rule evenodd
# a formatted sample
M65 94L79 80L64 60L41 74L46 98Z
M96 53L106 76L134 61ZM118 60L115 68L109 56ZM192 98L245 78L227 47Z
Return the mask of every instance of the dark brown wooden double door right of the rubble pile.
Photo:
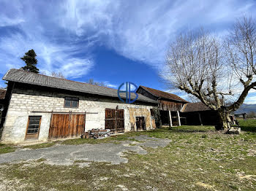
M124 133L124 109L105 110L105 129L113 133Z

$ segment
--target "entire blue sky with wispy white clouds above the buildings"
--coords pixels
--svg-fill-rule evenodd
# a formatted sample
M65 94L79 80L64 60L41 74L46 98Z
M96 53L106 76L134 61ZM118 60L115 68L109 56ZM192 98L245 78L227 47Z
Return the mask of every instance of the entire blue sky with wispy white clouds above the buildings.
M129 81L167 90L158 71L177 34L203 26L222 36L236 18L256 17L255 9L252 0L0 0L0 77L23 66L20 57L34 49L46 74L61 71L67 79L94 78L114 88ZM255 92L246 103L256 104Z

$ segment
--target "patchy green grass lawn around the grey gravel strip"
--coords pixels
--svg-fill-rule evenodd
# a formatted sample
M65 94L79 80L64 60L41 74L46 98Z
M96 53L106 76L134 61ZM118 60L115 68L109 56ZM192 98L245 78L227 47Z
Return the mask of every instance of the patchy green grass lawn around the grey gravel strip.
M3 164L0 190L256 190L256 133L247 130L226 135L211 126L181 126L108 139L72 139L62 144L120 144L140 134L171 142L164 148L144 148L147 155L126 153L129 162L119 165L102 162L81 168L47 165L43 159Z

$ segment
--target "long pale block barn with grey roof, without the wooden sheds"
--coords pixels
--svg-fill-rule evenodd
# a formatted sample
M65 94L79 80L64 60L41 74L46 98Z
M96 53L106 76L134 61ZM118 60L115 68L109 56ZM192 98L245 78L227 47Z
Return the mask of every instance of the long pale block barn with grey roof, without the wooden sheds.
M115 89L20 69L10 69L3 79L8 81L0 126L4 143L79 137L92 128L113 133L156 128L151 109L157 101L141 94L125 104Z

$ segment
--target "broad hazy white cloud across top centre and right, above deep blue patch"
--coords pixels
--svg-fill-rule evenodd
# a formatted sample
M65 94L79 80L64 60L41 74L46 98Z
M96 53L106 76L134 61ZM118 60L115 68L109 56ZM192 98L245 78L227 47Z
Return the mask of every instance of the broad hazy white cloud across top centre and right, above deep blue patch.
M252 1L66 1L59 24L78 36L94 34L127 58L159 66L181 29L233 22Z

